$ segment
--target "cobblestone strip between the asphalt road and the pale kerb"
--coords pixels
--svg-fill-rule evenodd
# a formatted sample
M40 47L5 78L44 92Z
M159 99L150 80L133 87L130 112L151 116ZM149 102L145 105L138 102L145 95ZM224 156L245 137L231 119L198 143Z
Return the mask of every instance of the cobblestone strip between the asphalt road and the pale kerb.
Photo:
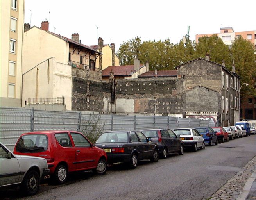
M245 182L256 169L256 156L251 159L242 171L234 175L226 184L211 196L211 200L235 200L243 190Z

